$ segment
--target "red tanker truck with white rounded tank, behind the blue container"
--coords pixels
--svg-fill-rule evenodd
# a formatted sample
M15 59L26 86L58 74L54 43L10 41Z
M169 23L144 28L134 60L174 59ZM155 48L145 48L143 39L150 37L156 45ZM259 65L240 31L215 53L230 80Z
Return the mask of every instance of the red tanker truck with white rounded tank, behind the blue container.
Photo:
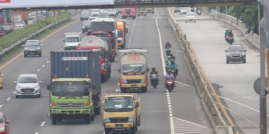
M87 36L83 38L77 50L101 50L101 82L105 83L111 76L111 63L107 60L108 44L96 36Z

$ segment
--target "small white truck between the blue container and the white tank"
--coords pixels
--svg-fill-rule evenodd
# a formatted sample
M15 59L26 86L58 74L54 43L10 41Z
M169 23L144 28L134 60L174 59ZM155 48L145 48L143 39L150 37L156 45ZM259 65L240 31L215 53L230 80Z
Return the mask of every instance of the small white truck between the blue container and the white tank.
M81 40L81 33L65 33L64 50L76 50Z

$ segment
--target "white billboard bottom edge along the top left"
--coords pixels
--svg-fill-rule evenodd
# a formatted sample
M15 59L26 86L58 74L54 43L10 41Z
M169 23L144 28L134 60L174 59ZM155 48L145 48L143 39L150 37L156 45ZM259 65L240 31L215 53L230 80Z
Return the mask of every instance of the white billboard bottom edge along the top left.
M0 0L0 8L112 5L114 0Z

